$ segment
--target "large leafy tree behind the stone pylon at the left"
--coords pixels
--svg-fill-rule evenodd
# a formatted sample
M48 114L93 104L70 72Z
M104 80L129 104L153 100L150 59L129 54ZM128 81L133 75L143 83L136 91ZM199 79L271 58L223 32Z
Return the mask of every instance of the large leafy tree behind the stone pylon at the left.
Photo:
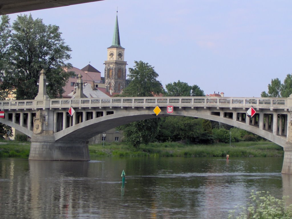
M71 49L61 38L58 26L45 25L39 18L33 20L32 15L19 15L13 22L9 44L1 43L9 52L4 84L16 88L16 99L34 99L41 69L46 70L49 81L48 96L62 95L62 87L72 74L65 69L72 65L65 63L70 59Z

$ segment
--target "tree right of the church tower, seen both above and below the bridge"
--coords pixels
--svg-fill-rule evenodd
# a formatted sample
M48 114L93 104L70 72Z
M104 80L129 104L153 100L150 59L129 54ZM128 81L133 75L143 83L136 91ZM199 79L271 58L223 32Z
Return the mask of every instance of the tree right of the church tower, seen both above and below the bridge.
M129 68L129 85L124 88L122 96L126 97L153 97L163 93L161 83L157 80L158 74L154 67L142 61L135 61L134 68ZM140 144L148 144L156 140L159 130L159 119L147 119L120 126L124 131L125 140L135 148Z

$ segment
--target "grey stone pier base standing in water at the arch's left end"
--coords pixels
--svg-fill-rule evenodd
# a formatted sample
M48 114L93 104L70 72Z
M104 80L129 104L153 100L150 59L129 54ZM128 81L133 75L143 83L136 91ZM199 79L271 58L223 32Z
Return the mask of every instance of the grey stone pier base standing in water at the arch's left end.
M54 135L33 135L29 160L89 161L88 141L55 142Z

